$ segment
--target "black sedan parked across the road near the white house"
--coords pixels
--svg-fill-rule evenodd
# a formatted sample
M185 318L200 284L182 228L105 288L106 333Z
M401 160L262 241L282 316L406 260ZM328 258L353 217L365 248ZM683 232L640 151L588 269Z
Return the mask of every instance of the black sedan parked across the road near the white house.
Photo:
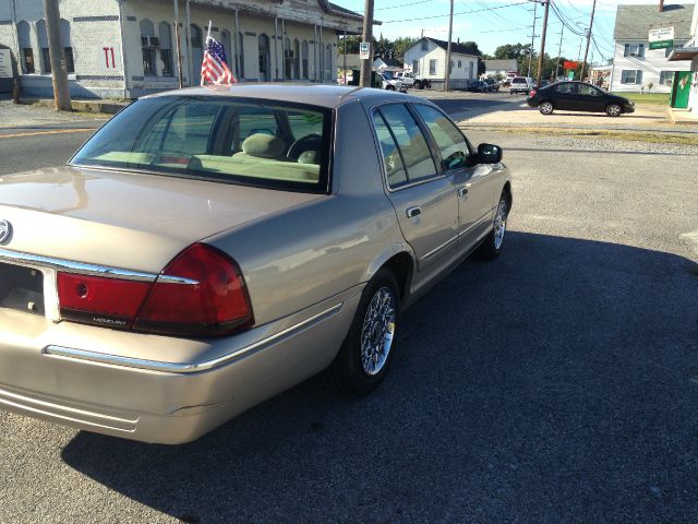
M526 102L531 107L538 107L543 115L550 115L556 109L605 112L610 117L635 112L635 104L627 98L611 95L583 82L556 82L532 91Z

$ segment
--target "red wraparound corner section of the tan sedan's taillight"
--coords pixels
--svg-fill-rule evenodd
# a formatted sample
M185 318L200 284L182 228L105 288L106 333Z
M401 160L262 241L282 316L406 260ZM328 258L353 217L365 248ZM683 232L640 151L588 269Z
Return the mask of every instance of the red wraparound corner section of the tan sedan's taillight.
M195 243L155 281L133 329L220 335L250 323L252 308L238 264L215 248Z

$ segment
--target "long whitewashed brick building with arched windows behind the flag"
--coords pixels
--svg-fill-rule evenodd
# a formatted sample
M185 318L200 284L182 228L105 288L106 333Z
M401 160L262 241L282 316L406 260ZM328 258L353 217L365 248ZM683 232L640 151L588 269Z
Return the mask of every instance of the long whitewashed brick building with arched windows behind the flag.
M61 0L64 64L73 97L133 98L177 88L179 9L183 85L200 82L208 21L241 82L337 81L337 37L362 16L327 0ZM0 46L22 90L52 96L41 0L0 1Z

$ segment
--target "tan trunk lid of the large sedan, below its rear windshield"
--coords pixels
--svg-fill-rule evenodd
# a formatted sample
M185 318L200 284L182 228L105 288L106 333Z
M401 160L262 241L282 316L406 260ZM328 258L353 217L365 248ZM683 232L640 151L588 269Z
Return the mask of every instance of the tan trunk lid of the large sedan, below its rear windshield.
M157 273L195 241L320 198L69 166L5 175L0 250Z

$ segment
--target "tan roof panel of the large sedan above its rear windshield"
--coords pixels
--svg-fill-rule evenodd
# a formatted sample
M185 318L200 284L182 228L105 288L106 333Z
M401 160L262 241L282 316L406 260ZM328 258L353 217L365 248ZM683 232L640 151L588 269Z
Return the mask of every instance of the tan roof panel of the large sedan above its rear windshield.
M377 102L426 102L402 93L370 87L298 84L298 83L244 83L232 85L206 85L202 87L186 87L183 90L165 91L146 95L142 98L158 96L234 96L238 98L263 98L266 100L291 102L326 108L336 108L351 100Z

